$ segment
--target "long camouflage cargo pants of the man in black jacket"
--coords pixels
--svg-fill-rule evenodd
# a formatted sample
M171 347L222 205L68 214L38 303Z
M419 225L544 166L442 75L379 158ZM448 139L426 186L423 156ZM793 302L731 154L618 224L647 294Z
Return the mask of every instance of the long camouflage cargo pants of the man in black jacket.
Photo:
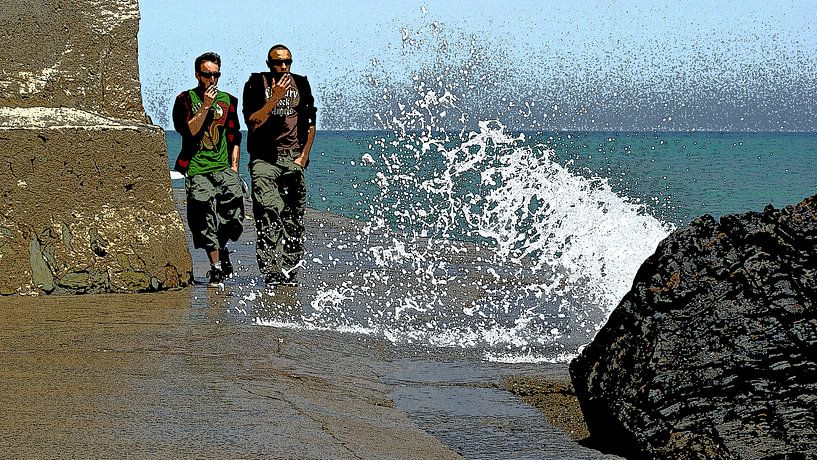
M285 150L274 163L250 163L258 268L281 281L295 276L304 254L306 182L304 169L293 161L300 155Z

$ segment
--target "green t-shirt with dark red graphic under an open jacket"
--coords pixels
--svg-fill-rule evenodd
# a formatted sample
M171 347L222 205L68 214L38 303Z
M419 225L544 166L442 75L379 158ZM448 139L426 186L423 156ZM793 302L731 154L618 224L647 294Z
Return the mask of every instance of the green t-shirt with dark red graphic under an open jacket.
M202 99L196 91L190 90L191 116L198 112ZM230 96L219 91L210 107L210 113L204 120L202 135L199 141L199 149L190 158L190 168L187 170L188 176L204 174L213 171L223 171L230 166L227 152L227 136L225 133L225 123L227 121L227 110L230 107Z

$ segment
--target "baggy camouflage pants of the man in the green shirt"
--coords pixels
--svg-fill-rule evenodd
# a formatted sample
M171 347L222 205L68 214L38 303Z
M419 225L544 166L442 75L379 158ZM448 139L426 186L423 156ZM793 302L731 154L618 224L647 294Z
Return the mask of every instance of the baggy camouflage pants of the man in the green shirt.
M227 168L188 176L184 188L193 247L212 251L241 236L244 193L237 172Z

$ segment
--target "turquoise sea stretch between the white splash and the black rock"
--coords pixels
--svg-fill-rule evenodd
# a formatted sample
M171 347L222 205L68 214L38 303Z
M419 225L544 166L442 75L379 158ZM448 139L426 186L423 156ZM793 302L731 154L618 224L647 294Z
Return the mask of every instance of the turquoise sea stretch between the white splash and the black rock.
M815 134L601 133L563 135L555 147L560 158L609 178L619 194L676 224L817 193Z

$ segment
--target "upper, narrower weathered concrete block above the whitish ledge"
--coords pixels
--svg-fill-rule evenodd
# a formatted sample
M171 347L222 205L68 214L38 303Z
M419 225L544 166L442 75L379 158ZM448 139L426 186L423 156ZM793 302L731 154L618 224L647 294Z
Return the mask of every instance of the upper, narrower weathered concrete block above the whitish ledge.
M136 0L3 0L0 107L73 107L144 123Z

